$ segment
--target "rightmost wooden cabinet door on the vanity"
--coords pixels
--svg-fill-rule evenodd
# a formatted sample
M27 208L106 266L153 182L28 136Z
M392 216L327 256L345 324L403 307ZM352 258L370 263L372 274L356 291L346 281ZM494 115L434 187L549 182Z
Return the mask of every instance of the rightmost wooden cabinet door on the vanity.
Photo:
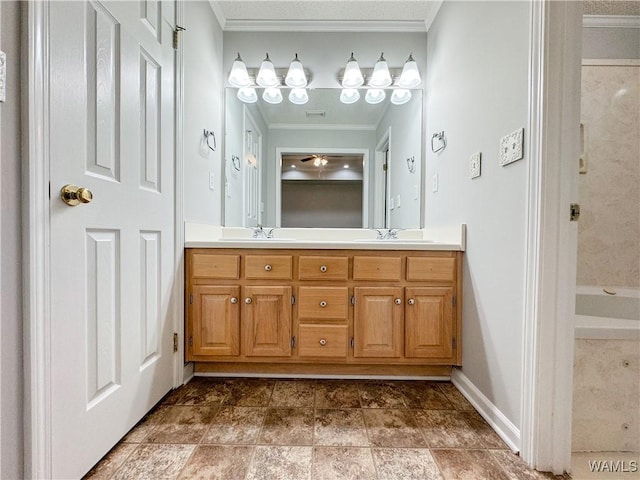
M406 289L405 356L453 357L453 288Z

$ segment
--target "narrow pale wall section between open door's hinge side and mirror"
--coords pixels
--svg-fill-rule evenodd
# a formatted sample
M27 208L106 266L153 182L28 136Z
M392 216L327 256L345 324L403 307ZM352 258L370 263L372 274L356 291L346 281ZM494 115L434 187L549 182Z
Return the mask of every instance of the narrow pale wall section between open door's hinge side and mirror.
M222 29L208 2L184 2L184 218L220 225L222 215L222 142L224 79ZM213 130L212 152L203 130ZM215 188L209 188L213 172Z

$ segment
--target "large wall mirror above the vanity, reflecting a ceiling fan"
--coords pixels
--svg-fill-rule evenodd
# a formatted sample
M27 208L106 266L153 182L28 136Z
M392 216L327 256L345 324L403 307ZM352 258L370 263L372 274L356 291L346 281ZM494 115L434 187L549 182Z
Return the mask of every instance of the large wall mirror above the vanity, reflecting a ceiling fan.
M243 103L226 90L226 226L420 228L423 99Z

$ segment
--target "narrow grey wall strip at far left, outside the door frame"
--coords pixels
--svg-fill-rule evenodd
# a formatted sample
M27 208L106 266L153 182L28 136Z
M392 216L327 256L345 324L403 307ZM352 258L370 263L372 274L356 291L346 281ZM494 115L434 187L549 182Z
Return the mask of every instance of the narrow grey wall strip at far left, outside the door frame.
M21 2L0 2L0 49L7 54L0 103L0 478L23 478Z

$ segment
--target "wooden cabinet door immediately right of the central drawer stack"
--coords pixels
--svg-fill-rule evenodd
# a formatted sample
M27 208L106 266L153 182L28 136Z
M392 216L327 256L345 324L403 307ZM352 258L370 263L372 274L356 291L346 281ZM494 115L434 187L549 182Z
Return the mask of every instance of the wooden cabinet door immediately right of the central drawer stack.
M402 288L356 287L354 291L354 357L402 356Z

